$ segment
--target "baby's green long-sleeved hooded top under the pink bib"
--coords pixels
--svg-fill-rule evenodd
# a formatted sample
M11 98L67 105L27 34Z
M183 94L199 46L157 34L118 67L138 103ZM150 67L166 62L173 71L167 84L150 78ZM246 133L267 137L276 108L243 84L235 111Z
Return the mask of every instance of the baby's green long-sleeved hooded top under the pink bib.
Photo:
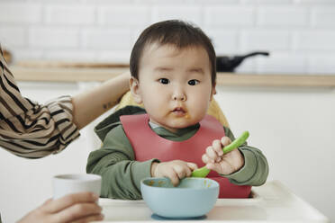
M103 141L100 149L88 156L86 172L100 174L103 178L101 197L139 200L140 180L150 177L151 159L145 162L135 161L134 151L126 137L119 120L122 114L143 113L139 107L128 106L113 113L95 127L95 132ZM179 129L177 132L168 131L162 127L153 129L160 137L174 141L183 141L195 135L199 124ZM231 129L223 127L225 135L231 140L234 136ZM266 182L268 174L267 158L256 147L249 147L245 143L239 147L244 156L245 164L239 171L222 175L231 183L239 185L257 186ZM159 161L158 161L159 162Z

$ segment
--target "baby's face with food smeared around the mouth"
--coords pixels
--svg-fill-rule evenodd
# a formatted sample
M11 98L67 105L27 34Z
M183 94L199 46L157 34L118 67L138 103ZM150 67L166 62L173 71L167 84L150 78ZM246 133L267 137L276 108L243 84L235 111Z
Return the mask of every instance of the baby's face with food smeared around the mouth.
M140 59L131 91L150 121L176 131L204 118L213 99L211 65L204 48L151 45Z

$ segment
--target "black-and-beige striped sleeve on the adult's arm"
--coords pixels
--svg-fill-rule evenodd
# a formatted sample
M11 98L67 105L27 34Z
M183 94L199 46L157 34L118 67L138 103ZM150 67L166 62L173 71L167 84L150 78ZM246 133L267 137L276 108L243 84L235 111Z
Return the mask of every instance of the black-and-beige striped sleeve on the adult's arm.
M24 98L0 46L0 147L16 156L59 153L79 136L70 96L41 105Z

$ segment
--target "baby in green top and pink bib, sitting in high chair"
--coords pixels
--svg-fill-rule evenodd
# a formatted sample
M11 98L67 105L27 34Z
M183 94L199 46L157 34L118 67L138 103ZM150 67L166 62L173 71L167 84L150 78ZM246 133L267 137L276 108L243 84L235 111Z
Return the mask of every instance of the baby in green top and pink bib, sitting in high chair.
M223 154L231 129L206 115L215 94L211 40L182 21L154 23L131 52L131 94L144 109L128 106L95 127L103 147L88 157L87 173L103 177L102 197L141 199L140 180L168 177L174 185L206 165L220 183L220 198L245 198L266 182L268 165L246 144Z

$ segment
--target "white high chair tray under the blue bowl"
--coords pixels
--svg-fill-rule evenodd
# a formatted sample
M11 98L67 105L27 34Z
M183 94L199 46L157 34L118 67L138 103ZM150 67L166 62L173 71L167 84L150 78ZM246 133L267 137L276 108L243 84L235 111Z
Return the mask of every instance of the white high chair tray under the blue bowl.
M104 221L100 222L330 222L318 210L272 181L252 188L253 198L218 199L213 210L200 219L161 219L153 215L144 201L100 199Z

